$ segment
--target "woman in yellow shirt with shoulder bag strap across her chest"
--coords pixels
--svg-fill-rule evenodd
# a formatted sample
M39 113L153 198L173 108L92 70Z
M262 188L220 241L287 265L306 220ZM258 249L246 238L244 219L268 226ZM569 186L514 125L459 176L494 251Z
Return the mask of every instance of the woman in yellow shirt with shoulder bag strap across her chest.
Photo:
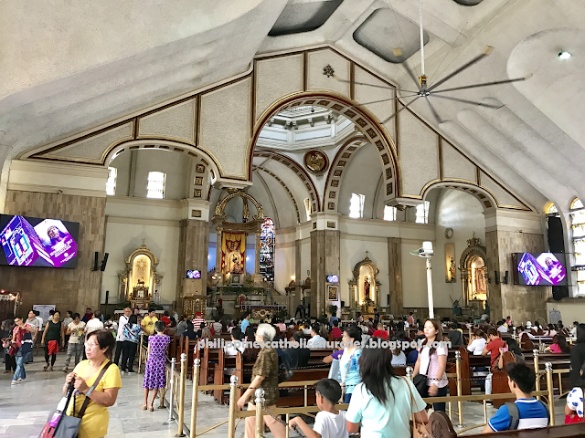
M100 371L112 359L114 339L107 330L92 331L85 340L87 360L81 360L72 372L69 372L63 385L63 395L67 393L69 383L73 383L75 392L75 411L69 402L68 415L78 415L83 401L90 398L83 418L81 419L79 438L101 438L108 433L110 414L108 407L118 398L118 390L122 388L120 369L111 364L93 391L90 388L96 383Z

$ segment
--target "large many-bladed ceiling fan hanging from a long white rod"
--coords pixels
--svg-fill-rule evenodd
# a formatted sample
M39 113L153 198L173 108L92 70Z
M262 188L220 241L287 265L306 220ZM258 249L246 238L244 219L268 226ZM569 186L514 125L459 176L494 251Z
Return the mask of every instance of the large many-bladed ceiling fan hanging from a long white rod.
M467 68L472 67L474 64L476 64L479 61L481 61L482 59L484 59L484 57L488 57L492 53L492 51L494 50L494 47L491 47L491 46L485 47L483 53L481 53L480 55L478 55L476 57L473 57L473 59L471 59L467 63L463 64L463 66L461 66L460 68L456 68L454 71L452 71L452 73L448 74L444 78L441 78L439 81L437 81L433 84L430 84L429 80L428 80L429 78L425 75L425 69L424 69L424 37L423 37L424 34L423 34L423 28L422 28L422 0L419 0L419 22L420 22L420 77L418 79L416 78L416 75L414 74L412 69L409 67L406 59L402 63L402 66L404 67L404 69L406 70L406 72L408 73L408 75L412 79L412 81L415 83L418 90L414 91L414 90L405 89L404 91L410 92L412 94L407 95L407 96L397 97L397 98L382 99L382 100L377 100L375 102L367 102L367 103L361 104L361 105L367 105L368 103L378 103L378 102L383 102L383 101L388 101L388 100L404 99L404 98L412 98L412 97L414 98L414 99L411 99L410 102L408 102L407 104L403 104L403 106L398 111L396 111L393 115L388 117L388 119L383 120L382 123L386 123L388 120L393 119L401 110L407 109L408 107L410 107L410 105L412 103L414 103L415 101L417 101L420 98L423 98L426 100L427 104L429 105L429 108L431 109L432 116L437 121L437 123L442 123L443 120L441 119L441 116L439 115L437 110L435 110L434 106L432 105L431 98L454 100L456 102L467 103L467 104L475 105L478 107L486 107L486 108L492 108L492 109L497 110L499 108L502 108L504 105L493 105L493 104L479 102L479 101L475 101L475 100L455 98L452 96L444 96L441 93L446 93L449 91L459 91L459 90L463 90L463 89L479 89L482 87L491 87L491 86L495 86L495 85L510 84L512 82L527 80L528 78L532 77L532 74L530 74L525 78L495 80L495 81L491 81L491 82L481 82L481 83L476 83L476 84L471 84L471 85L452 87L450 89L438 89L439 87L441 87L442 84L444 84L448 80L459 75ZM394 56L399 57L401 55L402 55L402 50L399 47L395 48L394 49ZM337 78L335 75L333 75L333 77L341 82L353 82L354 84L358 84L358 85L365 85L365 86L376 87L376 88L381 88L381 89L389 89L389 87L384 87L384 86L380 86L380 85L367 84L367 83L363 83L363 82L356 82L356 81L350 81L350 80Z

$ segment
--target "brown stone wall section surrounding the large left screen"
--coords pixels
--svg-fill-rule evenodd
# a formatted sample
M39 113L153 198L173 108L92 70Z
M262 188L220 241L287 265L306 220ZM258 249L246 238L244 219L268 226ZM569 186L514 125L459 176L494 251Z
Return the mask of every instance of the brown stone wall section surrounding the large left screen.
M5 214L55 218L80 223L78 266L75 269L2 266L6 290L20 291L23 312L34 304L54 304L64 312L97 308L101 272L91 272L94 252L103 255L106 199L58 193L8 190Z

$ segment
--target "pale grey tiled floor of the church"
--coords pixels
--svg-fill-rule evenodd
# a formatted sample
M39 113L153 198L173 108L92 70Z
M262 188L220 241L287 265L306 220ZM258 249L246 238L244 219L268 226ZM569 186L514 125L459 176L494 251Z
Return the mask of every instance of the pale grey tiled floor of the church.
M27 381L19 385L10 385L11 377L0 371L0 438L37 438L48 415L53 412L61 398L61 387L65 373L61 371L64 355L59 354L55 371L43 371L42 357L36 358L28 364ZM2 367L4 370L4 366ZM109 438L171 438L177 433L176 421L167 423L168 410L156 409L158 401L154 403L154 412L141 411L143 402L143 377L140 374L122 374L123 388L118 400L109 410L110 424L107 436ZM188 425L191 415L191 385L186 384L185 422ZM557 423L564 421L564 400L556 405ZM453 423L457 423L456 404L453 404ZM464 427L484 422L483 405L472 402L463 404ZM488 407L488 418L495 414L495 409ZM211 427L228 419L228 408L220 406L212 397L199 393L197 403L197 432ZM456 426L455 430L459 428ZM481 428L473 429L469 433L479 433ZM188 431L185 431L188 436ZM227 424L205 433L205 436L228 435ZM243 422L239 423L236 437L243 438ZM270 433L266 434L271 437ZM291 433L291 436L296 436Z

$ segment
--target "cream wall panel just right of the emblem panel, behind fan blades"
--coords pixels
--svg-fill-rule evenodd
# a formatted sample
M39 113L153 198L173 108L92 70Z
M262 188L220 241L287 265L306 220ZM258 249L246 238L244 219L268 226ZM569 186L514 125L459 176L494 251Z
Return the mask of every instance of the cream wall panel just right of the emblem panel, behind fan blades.
M354 74L356 80L356 85L354 86L354 99L362 104L366 102L377 102L363 105L363 107L373 113L378 118L379 122L391 117L396 112L394 100L388 100L386 102L379 102L379 100L395 98L396 89L387 82L368 73L364 68L356 66ZM368 87L367 85L360 85L357 82L371 84L377 87ZM379 87L387 87L387 89ZM392 118L382 126L384 126L390 134L390 138L396 143L396 120Z

